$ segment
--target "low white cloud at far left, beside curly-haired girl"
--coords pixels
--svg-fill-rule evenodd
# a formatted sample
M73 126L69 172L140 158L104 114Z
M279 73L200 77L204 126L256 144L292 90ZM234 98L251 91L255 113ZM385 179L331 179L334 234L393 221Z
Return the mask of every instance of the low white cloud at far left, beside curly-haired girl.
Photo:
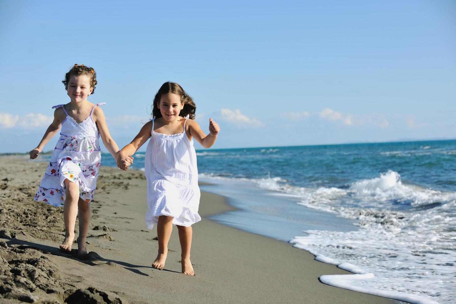
M28 113L22 116L0 113L0 127L5 129L33 129L52 123L52 117L40 113Z

